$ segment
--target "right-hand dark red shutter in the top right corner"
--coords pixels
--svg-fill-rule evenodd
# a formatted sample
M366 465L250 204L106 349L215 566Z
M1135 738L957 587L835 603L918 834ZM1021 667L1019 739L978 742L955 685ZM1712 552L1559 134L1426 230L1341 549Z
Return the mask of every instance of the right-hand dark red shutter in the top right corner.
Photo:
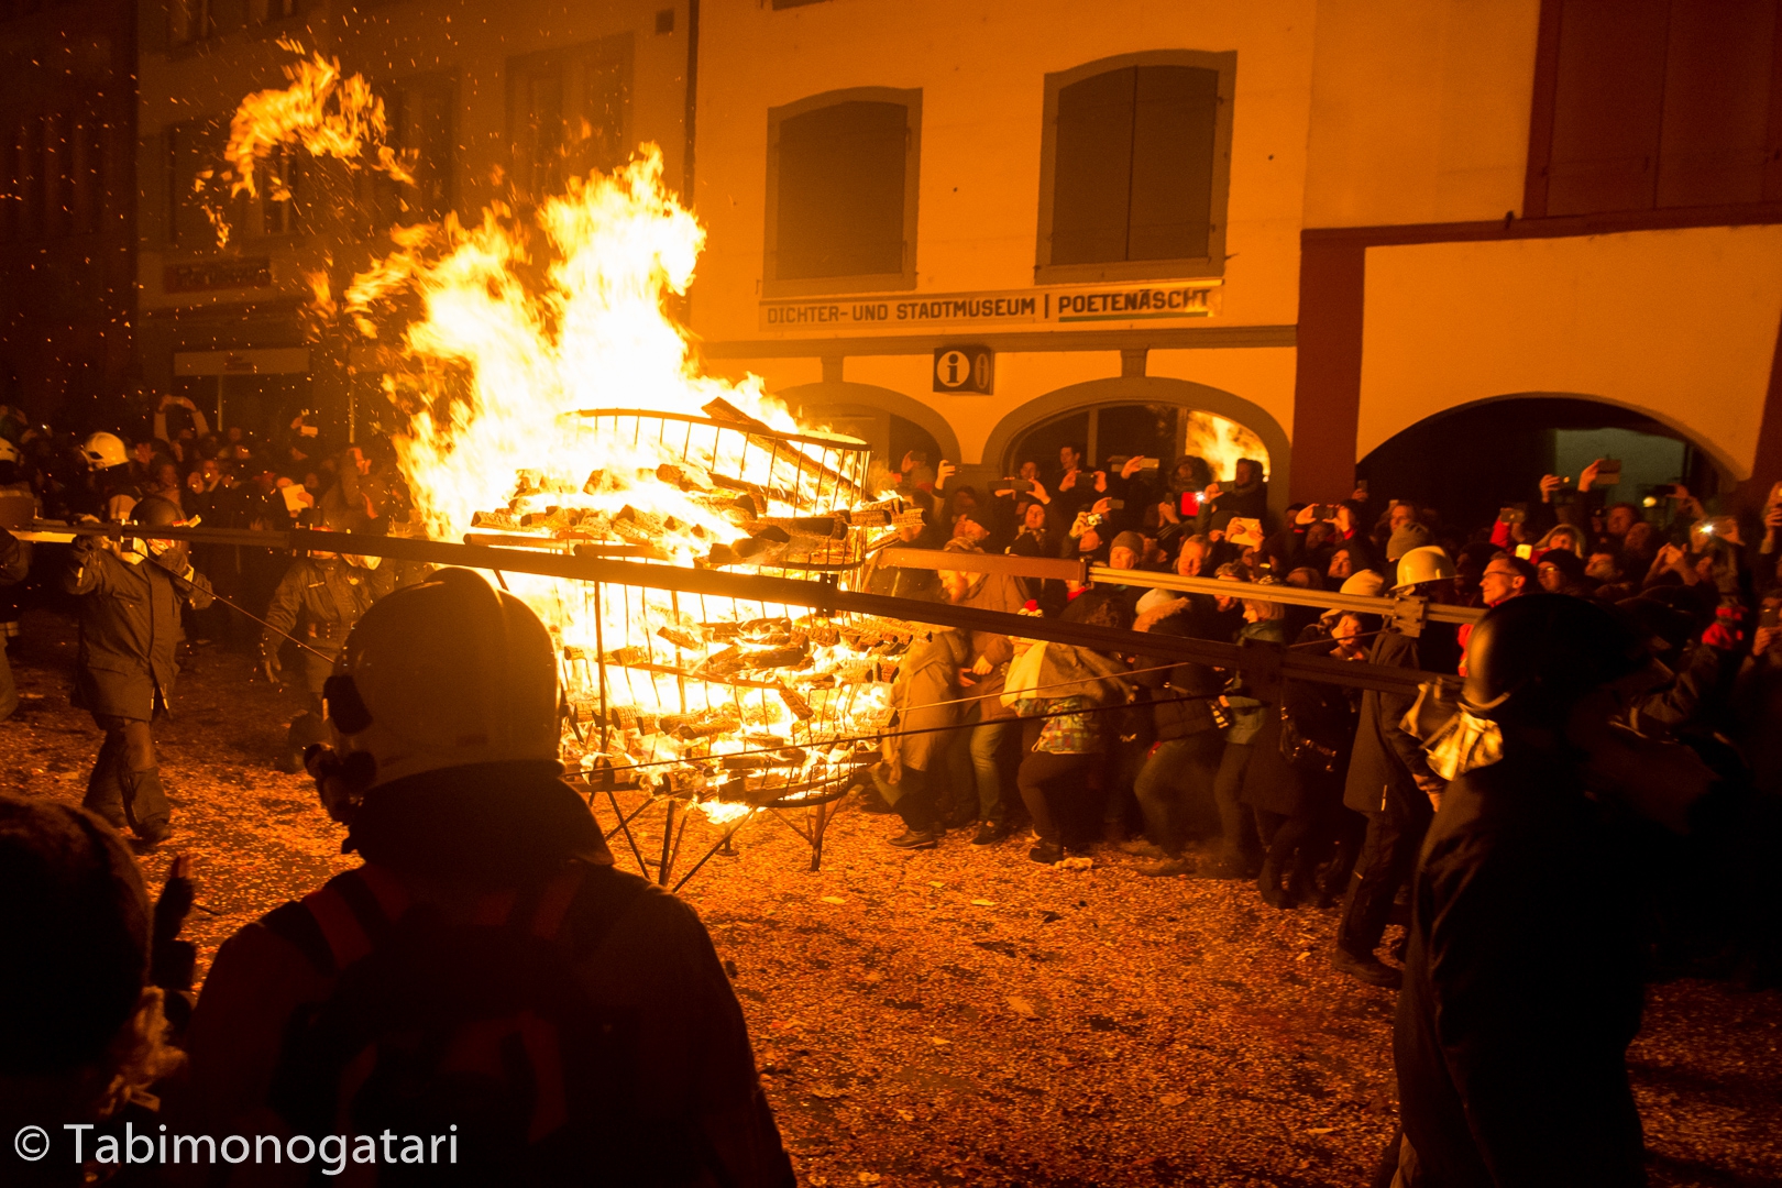
M1659 207L1761 201L1777 0L1672 4Z

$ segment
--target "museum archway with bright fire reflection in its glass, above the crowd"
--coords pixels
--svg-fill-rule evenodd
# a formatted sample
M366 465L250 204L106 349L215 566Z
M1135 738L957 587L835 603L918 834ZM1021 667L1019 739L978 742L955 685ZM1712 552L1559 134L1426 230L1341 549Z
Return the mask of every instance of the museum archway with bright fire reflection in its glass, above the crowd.
M1276 515L1287 508L1287 431L1260 404L1221 388L1162 376L1073 383L1003 417L984 445L984 465L1014 474L1032 458L1050 467L1060 445L1087 447L1096 461L1144 454L1167 465L1199 454L1221 479L1231 477L1238 458L1256 458L1269 477L1269 506Z

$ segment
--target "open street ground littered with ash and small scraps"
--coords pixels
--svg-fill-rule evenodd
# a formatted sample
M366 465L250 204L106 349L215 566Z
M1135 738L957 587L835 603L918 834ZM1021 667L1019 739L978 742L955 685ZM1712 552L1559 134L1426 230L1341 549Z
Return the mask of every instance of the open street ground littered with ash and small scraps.
M80 801L100 736L68 704L73 639L66 616L32 613L12 641L7 791ZM175 853L196 857L200 972L235 928L355 864L310 782L271 769L294 709L249 657L200 648L159 728L175 834L143 866L159 887ZM645 855L659 821L636 830ZM884 844L893 821L845 805L813 875L763 814L683 892L802 1183L1367 1183L1397 1110L1394 996L1329 969L1335 914L1144 878L1114 851L1041 867L1021 837L905 853ZM681 869L716 837L695 816ZM1629 1065L1655 1186L1782 1181L1778 1044L1775 992L1650 987Z

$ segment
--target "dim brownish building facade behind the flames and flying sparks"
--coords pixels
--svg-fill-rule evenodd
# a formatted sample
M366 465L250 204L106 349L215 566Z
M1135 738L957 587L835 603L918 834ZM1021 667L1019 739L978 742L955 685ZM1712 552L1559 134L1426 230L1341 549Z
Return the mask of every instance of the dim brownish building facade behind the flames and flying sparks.
M340 292L397 223L470 217L663 146L684 167L686 0L141 0L139 353L157 390L271 431L314 410L331 435L380 424L376 354L319 335L314 278ZM230 203L217 246L196 194L221 166L241 100L285 85L289 45L339 59L385 100L390 139L419 159L397 194L371 173L282 160L289 199ZM337 438L339 440L339 438Z

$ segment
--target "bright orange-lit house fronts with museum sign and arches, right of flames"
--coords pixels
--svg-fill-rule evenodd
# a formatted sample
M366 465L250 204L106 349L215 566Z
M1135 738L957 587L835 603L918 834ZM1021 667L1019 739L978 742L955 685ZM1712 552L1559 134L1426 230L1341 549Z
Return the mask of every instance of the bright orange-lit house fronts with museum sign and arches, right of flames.
M706 4L695 328L978 474L1151 452L1180 408L1249 427L1278 504L1333 499L1520 401L1488 424L1673 435L1768 490L1778 32L1770 0Z

